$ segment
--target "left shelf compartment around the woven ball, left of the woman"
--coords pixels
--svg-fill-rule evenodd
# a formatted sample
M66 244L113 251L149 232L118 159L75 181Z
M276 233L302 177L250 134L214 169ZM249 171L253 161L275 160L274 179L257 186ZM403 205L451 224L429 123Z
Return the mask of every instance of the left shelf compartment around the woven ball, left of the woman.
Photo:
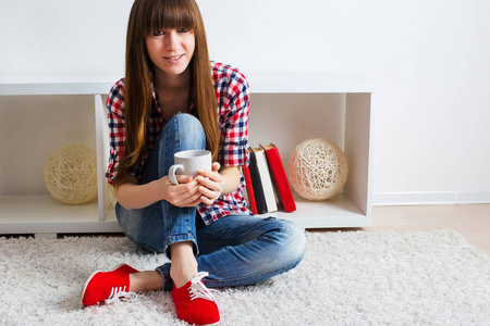
M93 96L0 97L0 234L97 222L97 199L83 205L61 203L50 196L44 178L54 150L69 143L95 149L95 131Z

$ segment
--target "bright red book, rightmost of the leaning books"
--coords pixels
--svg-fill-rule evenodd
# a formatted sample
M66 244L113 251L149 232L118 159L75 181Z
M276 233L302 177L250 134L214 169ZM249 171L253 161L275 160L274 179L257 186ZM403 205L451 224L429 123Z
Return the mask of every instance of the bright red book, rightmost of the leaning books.
M278 147L273 143L260 147L266 151L269 170L272 174L272 179L275 184L279 201L282 203L284 211L290 213L296 211L296 203L294 202L293 192L291 191L287 177L285 175L284 165L282 165L281 155Z

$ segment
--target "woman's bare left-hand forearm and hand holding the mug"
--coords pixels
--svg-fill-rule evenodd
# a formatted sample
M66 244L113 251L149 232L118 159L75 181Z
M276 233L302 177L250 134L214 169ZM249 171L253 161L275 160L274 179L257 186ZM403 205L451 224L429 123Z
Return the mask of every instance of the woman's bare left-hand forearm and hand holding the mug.
M196 206L201 202L199 183L192 177L177 175L179 185L172 185L168 176L145 185L138 185L133 176L115 188L118 202L126 210L143 209L160 200L180 208Z

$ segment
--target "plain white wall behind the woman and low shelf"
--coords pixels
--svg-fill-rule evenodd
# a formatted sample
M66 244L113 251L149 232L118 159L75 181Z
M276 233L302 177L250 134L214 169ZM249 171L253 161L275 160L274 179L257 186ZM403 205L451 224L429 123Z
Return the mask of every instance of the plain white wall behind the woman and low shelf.
M0 2L0 78L123 74L130 0ZM378 87L373 201L490 202L490 2L198 0L211 57ZM114 79L115 80L115 79Z

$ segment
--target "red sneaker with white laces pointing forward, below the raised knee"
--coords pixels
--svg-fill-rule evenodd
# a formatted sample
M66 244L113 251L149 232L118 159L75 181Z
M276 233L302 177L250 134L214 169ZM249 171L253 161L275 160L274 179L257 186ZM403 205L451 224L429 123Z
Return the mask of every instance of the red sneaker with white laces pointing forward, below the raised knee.
M186 285L172 290L176 314L188 324L217 325L220 322L215 297L201 281L208 275L207 272L197 273Z

